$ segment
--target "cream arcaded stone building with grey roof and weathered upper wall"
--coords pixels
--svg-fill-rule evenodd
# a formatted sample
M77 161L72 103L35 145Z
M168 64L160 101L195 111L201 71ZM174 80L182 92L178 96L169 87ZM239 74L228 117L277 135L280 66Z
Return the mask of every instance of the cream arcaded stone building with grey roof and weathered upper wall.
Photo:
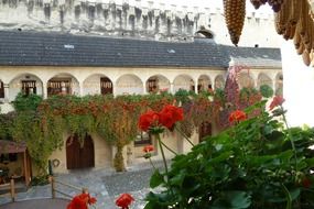
M208 88L224 88L227 70L232 65L250 68L249 74L240 75L241 87L266 84L280 94L280 50L258 47L263 44L253 42L245 45L256 47L221 43L224 32L214 30L214 25L220 24L221 28L218 19L214 22L216 15L220 14L210 13L213 26L209 30L204 26L208 23L205 13L174 13L152 6L138 8L128 3L117 6L75 0L2 1L1 111L12 110L10 102L21 91L43 98L57 94L144 95L161 89L172 94L178 89L197 94ZM208 130L210 132L215 133L215 129ZM190 148L175 133L164 138L172 138L165 142L174 151ZM51 156L57 162L56 172L111 166L115 148L99 136L86 139L85 156L91 156L90 162L78 167L67 157L78 146L66 146L68 135L64 139L64 148ZM195 132L192 140L198 143L199 135ZM128 165L142 161L144 143L136 141L126 148ZM166 155L170 157L171 153Z

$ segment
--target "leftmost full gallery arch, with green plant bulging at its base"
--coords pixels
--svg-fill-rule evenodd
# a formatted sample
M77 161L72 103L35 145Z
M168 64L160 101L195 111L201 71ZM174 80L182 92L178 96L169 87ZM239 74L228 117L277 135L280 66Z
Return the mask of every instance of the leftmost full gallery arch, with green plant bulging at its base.
M9 82L9 100L14 100L19 92L43 96L43 81L34 74L19 74Z

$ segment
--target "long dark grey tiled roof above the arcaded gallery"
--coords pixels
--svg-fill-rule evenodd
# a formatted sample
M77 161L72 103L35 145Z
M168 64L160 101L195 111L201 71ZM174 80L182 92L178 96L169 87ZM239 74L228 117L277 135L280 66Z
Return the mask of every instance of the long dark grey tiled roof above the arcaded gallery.
M0 31L2 66L228 67L231 57L281 66L278 48ZM241 59L245 61L245 59ZM256 63L255 63L256 62Z

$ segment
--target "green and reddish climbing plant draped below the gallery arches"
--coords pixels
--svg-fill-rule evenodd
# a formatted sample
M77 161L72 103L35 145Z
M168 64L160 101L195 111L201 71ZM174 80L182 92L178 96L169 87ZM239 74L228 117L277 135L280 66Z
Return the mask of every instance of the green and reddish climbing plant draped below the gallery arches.
M239 103L249 105L260 99L259 91L248 89L236 97ZM53 96L44 100L18 95L15 113L0 114L0 138L25 141L34 165L45 175L48 156L62 148L65 133L76 135L82 146L86 135L98 134L117 147L113 164L123 170L122 150L140 132L138 118L148 110L161 111L166 105L182 106L185 118L176 129L190 136L203 122L226 122L221 112L228 109L228 97L220 89L198 95L181 90L175 95Z

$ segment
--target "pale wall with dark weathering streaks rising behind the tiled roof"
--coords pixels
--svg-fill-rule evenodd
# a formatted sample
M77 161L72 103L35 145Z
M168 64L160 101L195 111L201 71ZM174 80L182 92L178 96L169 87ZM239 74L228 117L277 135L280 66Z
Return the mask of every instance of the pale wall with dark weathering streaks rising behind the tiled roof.
M0 30L55 31L73 34L136 37L159 41L193 41L204 26L215 41L231 44L223 11L187 8L153 1L1 0ZM281 37L270 15L248 14L239 45L278 46Z

